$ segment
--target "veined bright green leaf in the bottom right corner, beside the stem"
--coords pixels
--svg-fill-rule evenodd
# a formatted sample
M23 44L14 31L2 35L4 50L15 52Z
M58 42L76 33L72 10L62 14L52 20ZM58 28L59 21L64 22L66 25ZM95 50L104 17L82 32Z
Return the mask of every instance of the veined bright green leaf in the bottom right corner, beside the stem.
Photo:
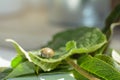
M120 73L106 62L91 56L84 56L84 58L85 59L80 58L78 60L78 64L88 72L95 74L105 80L120 79Z

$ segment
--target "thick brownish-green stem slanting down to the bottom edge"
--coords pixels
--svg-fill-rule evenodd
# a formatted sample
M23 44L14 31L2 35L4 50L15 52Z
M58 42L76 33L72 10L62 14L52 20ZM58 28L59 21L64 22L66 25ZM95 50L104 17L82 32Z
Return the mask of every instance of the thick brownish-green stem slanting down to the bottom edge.
M78 64L76 64L75 62L73 62L73 60L71 60L70 58L66 59L66 62L71 65L72 67L74 67L74 69L79 72L81 75L83 75L84 77L88 78L89 80L100 80L98 78L96 78L95 76L89 74L87 71L85 71L84 69L82 69Z

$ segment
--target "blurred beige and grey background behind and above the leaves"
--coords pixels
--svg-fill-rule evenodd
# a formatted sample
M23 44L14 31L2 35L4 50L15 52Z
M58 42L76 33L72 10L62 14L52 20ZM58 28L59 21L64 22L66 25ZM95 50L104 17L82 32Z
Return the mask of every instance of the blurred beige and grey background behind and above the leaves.
M119 0L0 0L0 66L9 65L14 39L25 50L38 49L53 34L80 26L104 27Z

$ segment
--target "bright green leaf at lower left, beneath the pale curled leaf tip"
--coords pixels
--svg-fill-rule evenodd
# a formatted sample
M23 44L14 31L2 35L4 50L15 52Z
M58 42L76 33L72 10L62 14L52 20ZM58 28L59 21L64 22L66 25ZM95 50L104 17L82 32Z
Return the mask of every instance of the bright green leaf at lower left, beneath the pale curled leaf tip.
M16 68L14 68L12 72L10 72L8 76L6 76L5 78L13 78L13 77L26 75L26 74L33 74L33 73L35 73L35 65L31 62L26 61L19 64Z

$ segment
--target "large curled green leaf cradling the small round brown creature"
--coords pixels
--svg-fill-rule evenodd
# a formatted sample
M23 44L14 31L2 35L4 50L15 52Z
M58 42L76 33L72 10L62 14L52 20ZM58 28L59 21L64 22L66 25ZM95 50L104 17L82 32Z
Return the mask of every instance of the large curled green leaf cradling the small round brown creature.
M24 55L30 62L40 66L44 71L53 70L62 60L74 53L94 52L107 42L105 35L98 28L81 27L68 30L58 33L48 43L47 47L54 49L55 55L52 58L43 58L38 56L40 50L26 52L17 42L11 39L7 41L14 44L18 54Z

